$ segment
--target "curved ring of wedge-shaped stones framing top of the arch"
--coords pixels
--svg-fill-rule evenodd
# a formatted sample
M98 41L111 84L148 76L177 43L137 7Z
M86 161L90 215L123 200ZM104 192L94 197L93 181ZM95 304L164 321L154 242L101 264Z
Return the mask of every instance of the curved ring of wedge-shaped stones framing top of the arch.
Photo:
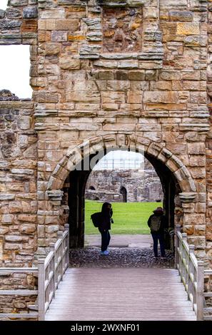
M95 154L102 150L113 150L115 148L131 149L131 143L136 150L142 147L144 153L160 160L161 163L173 172L178 180L182 192L196 192L196 185L191 177L191 173L181 160L166 148L166 143L151 142L150 140L136 135L126 135L125 133L107 134L91 138L78 146L69 148L66 156L56 165L56 168L49 178L47 190L59 190L63 187L66 177L75 166L81 163L86 156Z

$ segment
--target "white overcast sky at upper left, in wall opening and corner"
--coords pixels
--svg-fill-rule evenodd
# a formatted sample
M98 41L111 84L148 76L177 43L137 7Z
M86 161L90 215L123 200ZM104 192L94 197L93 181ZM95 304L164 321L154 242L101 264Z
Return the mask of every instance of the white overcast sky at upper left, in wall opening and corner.
M7 1L0 0L0 9L6 9ZM0 90L31 98L29 68L29 46L0 46Z

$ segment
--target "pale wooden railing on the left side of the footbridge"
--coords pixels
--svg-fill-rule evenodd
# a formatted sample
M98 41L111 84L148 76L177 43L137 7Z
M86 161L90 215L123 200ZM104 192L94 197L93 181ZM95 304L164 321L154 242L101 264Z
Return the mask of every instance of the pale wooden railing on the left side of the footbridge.
M36 274L39 278L38 290L9 289L0 290L1 296L37 296L38 305L29 306L29 313L0 313L0 319L45 319L45 314L56 289L69 267L69 225L65 225L64 232L58 232L56 243L51 243L50 252L46 258L38 259L38 267L1 267L0 275L4 274Z

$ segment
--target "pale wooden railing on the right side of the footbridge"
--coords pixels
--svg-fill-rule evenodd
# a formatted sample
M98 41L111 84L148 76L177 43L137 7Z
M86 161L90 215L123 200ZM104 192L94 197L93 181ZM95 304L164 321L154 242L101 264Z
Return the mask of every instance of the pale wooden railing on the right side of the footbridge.
M187 234L180 232L180 226L176 228L175 245L176 269L181 276L188 299L191 300L196 319L198 321L209 320L212 317L204 314L212 311L212 309L204 306L205 297L212 297L212 293L204 292L204 277L212 274L212 270L204 269L204 262L196 259L194 245L188 244Z

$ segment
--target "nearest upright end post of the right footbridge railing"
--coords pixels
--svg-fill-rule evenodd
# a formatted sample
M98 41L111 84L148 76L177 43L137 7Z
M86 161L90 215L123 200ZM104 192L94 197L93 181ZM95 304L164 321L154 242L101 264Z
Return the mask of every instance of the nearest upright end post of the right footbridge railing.
M197 262L197 276L196 276L196 319L203 320L203 302L204 302L204 262Z

